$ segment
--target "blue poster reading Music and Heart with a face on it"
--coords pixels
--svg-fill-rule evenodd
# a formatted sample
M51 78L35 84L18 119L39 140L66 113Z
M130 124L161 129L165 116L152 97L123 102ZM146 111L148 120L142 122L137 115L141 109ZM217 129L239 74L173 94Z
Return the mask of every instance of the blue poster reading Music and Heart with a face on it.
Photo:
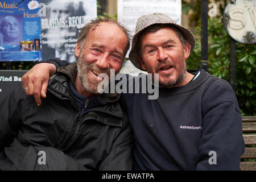
M0 1L0 61L42 60L39 1Z

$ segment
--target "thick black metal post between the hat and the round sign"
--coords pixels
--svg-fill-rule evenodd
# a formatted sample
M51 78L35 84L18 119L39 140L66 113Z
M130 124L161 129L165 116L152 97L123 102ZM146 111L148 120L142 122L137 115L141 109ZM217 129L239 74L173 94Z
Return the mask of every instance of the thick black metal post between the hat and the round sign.
M201 0L201 68L208 71L208 0Z

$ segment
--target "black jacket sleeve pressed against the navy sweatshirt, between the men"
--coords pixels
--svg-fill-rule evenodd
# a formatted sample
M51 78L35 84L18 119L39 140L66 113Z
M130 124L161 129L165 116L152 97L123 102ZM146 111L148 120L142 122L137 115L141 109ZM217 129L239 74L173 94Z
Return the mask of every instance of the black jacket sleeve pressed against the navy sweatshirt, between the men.
M125 117L124 117L125 118ZM127 118L127 115L126 115ZM99 170L102 171L131 171L132 169L132 150L133 150L133 131L130 123L126 125L115 139L112 150L105 160L101 163Z

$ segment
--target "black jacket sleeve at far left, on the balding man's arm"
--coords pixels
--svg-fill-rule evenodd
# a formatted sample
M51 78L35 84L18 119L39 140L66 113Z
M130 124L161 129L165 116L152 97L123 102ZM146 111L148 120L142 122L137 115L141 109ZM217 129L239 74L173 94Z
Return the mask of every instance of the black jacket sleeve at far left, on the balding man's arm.
M22 123L22 105L26 100L22 86L16 88L9 96L0 101L0 171L7 170L86 170L71 156L54 147L24 146L16 136ZM46 164L40 163L43 151ZM42 154L43 155L43 154ZM7 162L8 161L8 162Z

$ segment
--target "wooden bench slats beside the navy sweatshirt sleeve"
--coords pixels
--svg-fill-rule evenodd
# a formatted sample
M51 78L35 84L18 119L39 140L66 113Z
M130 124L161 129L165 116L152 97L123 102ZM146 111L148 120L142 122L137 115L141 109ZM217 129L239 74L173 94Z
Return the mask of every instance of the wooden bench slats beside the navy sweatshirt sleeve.
M241 156L242 171L256 171L256 116L242 117L245 152Z

